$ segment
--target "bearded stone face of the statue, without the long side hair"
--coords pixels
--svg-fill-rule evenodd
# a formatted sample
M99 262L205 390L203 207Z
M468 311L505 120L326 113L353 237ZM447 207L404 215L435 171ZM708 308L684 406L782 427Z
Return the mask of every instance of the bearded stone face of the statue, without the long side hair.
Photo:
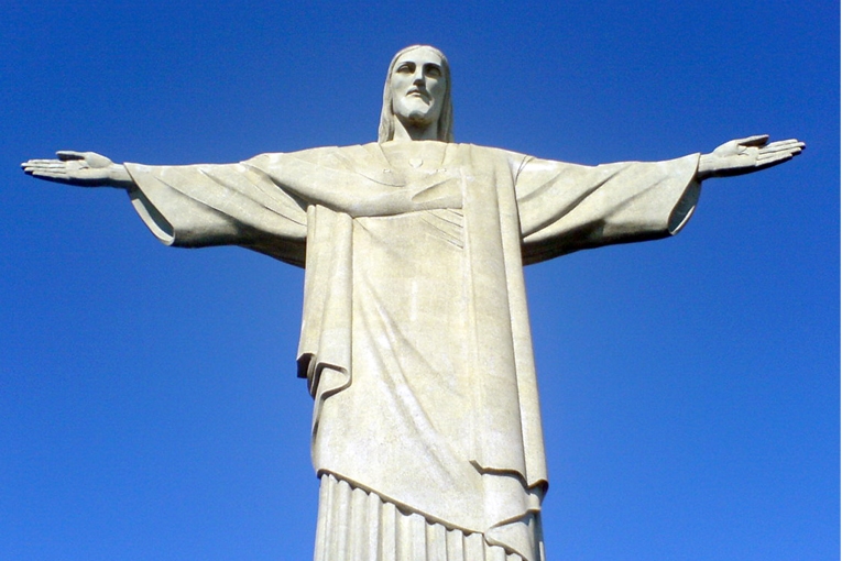
M392 68L392 111L415 127L436 122L441 114L447 82L441 57L419 47L404 53Z

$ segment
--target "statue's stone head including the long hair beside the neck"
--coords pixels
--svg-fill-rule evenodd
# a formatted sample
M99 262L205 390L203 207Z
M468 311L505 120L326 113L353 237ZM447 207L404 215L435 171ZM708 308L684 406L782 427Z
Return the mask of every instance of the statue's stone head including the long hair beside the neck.
M412 45L392 58L383 87L378 142L394 139L395 119L413 124L433 121L437 127L437 139L453 142L450 65L438 48Z

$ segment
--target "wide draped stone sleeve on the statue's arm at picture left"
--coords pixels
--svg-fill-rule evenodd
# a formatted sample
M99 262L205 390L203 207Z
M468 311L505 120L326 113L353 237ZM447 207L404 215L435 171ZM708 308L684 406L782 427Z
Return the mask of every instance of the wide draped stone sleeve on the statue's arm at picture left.
M125 164L132 206L167 245L240 245L304 266L306 205L247 163Z

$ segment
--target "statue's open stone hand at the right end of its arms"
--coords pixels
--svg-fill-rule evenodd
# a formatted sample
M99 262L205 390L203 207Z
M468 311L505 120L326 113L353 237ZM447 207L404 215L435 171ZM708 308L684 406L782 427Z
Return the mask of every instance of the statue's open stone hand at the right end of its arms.
M726 142L699 158L699 179L751 174L791 160L801 153L805 143L796 139L768 142L768 134Z

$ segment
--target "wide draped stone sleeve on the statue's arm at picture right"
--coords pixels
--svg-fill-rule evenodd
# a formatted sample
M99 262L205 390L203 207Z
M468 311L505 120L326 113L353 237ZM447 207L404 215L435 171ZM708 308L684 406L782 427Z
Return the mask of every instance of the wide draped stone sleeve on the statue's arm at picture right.
M525 158L516 172L524 264L677 233L699 198L699 155L595 167Z

